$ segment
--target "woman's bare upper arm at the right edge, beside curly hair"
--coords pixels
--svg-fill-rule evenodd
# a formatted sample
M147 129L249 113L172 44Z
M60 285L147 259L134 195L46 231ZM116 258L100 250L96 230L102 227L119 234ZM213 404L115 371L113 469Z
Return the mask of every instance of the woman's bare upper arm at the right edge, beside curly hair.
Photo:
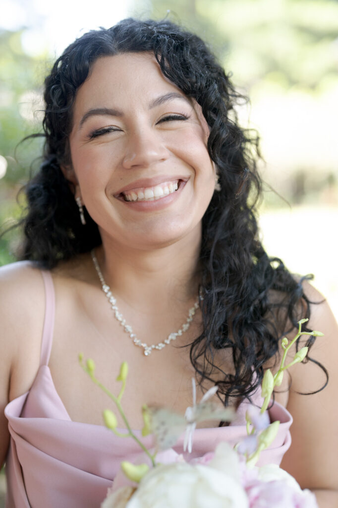
M322 298L310 284L306 293L310 300ZM291 473L302 488L337 489L338 469L338 326L326 301L311 306L309 326L324 333L317 337L309 352L310 358L325 367L328 385L320 390L326 376L320 366L309 361L290 369L291 387L287 409L293 417L292 444L285 454L282 467Z

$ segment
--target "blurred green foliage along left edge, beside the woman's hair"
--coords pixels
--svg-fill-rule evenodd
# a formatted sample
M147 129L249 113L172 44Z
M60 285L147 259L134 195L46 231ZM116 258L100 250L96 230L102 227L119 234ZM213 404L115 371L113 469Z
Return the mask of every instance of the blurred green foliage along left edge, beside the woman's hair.
M7 171L0 179L0 231L20 216L16 195L26 181L32 161L41 153L42 140L20 140L39 131L41 108L40 71L45 68L45 55L33 58L21 45L20 31L0 31L0 155L7 161ZM37 85L38 80L39 85ZM0 264L12 261L11 254L17 243L12 232L0 238Z

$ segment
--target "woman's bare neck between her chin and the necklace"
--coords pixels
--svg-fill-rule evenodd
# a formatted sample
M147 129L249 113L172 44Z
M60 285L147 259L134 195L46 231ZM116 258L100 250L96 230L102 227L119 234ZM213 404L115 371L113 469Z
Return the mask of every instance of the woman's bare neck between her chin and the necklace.
M96 249L106 282L117 298L140 311L194 302L198 293L200 235L158 249L135 249L103 236Z

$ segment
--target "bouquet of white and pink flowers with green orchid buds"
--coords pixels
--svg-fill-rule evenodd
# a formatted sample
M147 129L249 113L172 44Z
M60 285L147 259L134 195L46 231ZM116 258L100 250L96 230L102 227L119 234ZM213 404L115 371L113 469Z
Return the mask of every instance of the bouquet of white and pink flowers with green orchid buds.
M114 401L127 431L117 431L117 419L113 411L104 411L106 426L120 437L132 437L140 445L151 464L121 463L121 473L108 490L101 508L318 508L316 498L309 490L301 490L295 479L276 464L257 467L260 453L275 439L279 423L270 423L267 407L273 390L282 383L283 375L291 365L305 359L308 348L302 347L293 360L285 365L290 347L300 337L309 335L301 331L293 340L282 340L284 350L281 365L275 375L266 370L262 382L263 405L249 406L246 412L247 437L232 449L228 443L220 442L215 450L203 457L186 461L182 455L171 454L170 448L185 431L184 451L191 452L193 433L200 421L220 419L230 421L233 411L219 409L211 400L217 386L208 390L196 403L195 380L192 379L193 405L185 415L177 415L165 408L142 407L144 427L142 435L154 434L155 450L148 450L133 433L124 414L121 399L125 389L128 365L123 362L117 380L122 383L118 396L113 395L95 377L95 365L89 359L83 365L95 384L102 388ZM311 335L323 335L313 331Z

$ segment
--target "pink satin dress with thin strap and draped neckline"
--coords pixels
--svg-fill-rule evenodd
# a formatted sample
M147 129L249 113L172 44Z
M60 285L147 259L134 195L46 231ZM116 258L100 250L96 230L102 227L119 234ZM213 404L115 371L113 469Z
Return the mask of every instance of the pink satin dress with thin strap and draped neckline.
M55 296L49 272L42 272L46 310L37 376L27 393L5 408L11 435L6 462L6 508L99 508L119 470L121 460L138 462L140 449L131 438L121 439L104 426L73 422L58 396L48 367L52 346ZM259 397L254 395L254 403ZM246 436L242 403L228 427L202 428L194 433L190 458L214 451L217 443L231 445ZM280 420L278 436L262 452L260 464L280 464L291 443L289 412L275 403L269 411ZM172 452L183 454L183 436ZM151 448L152 437L143 438ZM187 454L183 454L187 458Z

